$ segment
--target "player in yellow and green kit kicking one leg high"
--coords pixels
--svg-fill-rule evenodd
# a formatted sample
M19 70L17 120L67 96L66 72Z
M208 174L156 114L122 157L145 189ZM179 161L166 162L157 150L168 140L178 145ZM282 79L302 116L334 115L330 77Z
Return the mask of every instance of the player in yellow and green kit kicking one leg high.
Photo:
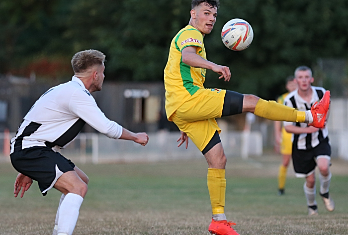
M254 95L243 95L221 89L205 89L206 69L220 74L219 79L229 81L230 69L206 59L203 37L214 27L219 0L192 0L191 18L186 27L173 38L165 68L166 113L169 120L179 127L180 146L188 137L204 154L208 162L208 191L213 218L208 231L216 235L238 235L231 228L235 225L226 220L225 206L225 165L226 156L221 145L221 129L216 117L251 112L271 120L306 122L324 126L330 103L330 92L310 111L265 101ZM324 115L317 119L317 114Z

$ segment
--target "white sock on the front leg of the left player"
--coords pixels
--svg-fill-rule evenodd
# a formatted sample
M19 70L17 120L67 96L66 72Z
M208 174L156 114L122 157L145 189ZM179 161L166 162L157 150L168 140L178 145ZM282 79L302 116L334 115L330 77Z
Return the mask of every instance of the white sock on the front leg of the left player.
M84 198L68 193L59 208L58 235L72 235L78 222L79 210Z

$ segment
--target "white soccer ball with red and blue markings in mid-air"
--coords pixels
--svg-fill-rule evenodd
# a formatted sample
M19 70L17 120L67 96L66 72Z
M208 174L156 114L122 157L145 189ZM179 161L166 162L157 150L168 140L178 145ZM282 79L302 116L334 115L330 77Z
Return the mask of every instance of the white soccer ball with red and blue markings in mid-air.
M222 42L233 51L242 51L248 48L253 37L253 28L244 19L231 19L221 31Z

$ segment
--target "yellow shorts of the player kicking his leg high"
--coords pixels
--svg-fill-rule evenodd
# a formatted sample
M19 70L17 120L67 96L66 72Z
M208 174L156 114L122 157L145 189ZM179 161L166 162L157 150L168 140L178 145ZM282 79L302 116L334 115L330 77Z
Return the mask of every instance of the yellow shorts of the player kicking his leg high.
M171 116L179 129L202 151L215 131L221 132L215 118L221 117L226 90L199 89Z

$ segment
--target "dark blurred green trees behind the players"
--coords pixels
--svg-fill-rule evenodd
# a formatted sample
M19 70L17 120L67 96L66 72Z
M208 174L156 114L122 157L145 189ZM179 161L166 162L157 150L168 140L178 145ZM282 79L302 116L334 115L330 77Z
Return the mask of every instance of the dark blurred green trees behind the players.
M190 0L1 0L0 74L67 79L74 53L106 54L109 81L163 81L169 45L189 21ZM220 36L232 18L247 20L254 41L242 52ZM227 65L229 83L207 73L206 87L274 99L295 67L348 56L347 0L221 0L204 38L207 58Z

